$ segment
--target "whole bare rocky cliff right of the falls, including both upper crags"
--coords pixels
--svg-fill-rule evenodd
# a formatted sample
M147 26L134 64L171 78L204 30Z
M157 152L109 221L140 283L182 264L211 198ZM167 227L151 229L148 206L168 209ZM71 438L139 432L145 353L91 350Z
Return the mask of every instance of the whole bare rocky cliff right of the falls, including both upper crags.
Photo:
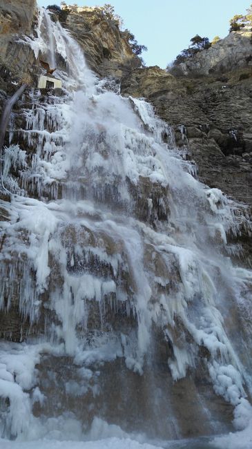
M122 79L123 95L146 97L175 126L177 144L188 146L202 182L252 204L250 30L197 53L179 66L188 76L174 77L137 67L126 36L99 8L71 8L65 26L96 73Z

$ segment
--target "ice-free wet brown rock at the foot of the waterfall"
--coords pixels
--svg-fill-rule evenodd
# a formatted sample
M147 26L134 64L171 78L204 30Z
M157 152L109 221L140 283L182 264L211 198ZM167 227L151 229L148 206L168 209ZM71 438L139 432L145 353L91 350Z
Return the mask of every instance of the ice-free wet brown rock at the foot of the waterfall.
M88 340L93 338L95 334L90 333ZM159 363L150 360L142 376L128 370L119 357L109 363L91 363L88 369L93 376L88 380L69 357L57 357L55 363L55 357L44 354L37 370L46 401L35 404L34 414L58 416L68 410L85 423L85 430L98 417L126 432L164 439L231 430L231 405L213 393L209 380L197 388L190 377L173 382L166 355ZM75 387L72 393L70 385Z

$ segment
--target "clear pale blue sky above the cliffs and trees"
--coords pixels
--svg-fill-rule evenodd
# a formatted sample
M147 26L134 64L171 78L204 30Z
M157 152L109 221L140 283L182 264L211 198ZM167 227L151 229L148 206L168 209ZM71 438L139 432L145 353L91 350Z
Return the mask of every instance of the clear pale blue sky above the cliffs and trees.
M39 6L60 5L61 0L37 0ZM66 0L79 6L102 6L111 3L124 20L124 27L139 44L148 47L143 53L147 66L165 68L196 34L213 39L229 32L229 19L244 14L251 0Z

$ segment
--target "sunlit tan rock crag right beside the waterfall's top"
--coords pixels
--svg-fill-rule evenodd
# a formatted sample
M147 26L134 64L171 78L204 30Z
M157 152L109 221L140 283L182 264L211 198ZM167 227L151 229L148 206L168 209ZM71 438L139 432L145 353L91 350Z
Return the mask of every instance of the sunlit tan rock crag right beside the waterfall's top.
M90 68L102 77L121 78L141 66L128 44L128 33L119 29L119 21L104 14L102 8L70 6L64 26L79 42Z

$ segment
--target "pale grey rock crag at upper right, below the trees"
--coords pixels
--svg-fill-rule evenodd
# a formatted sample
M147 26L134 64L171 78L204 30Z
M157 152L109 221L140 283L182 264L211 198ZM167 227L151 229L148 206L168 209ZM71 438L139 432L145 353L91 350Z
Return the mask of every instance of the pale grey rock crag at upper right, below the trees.
M199 77L249 67L252 64L251 37L249 27L233 31L209 49L197 52L195 56L179 64L177 70L182 75Z

